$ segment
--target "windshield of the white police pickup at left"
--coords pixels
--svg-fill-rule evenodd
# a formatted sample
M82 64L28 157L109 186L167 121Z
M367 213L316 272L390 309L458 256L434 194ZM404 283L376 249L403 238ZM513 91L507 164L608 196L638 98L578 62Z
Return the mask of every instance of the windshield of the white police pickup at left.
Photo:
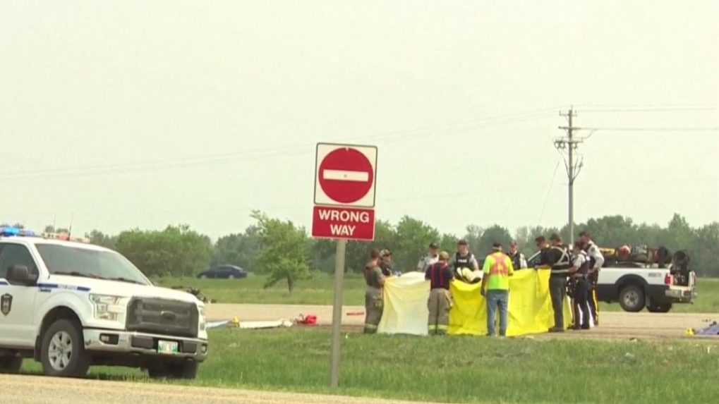
M47 270L53 275L93 277L149 285L142 272L116 252L59 244L35 244L35 247L40 252Z

